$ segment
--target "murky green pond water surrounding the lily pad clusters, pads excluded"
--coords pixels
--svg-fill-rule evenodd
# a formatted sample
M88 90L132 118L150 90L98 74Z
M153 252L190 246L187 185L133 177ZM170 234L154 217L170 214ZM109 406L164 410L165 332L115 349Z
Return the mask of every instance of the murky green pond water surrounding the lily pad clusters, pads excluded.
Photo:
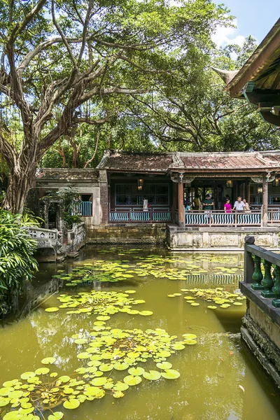
M162 258L156 255L162 255ZM111 267L112 261L118 261L115 268ZM115 282L76 283L76 286L71 286L71 276L66 276L68 280L52 279L53 275L65 277L62 270L71 273L74 268L72 273L75 273L75 269L84 264L88 264L85 267L92 264L97 267L99 280L109 279L108 276L113 274ZM123 271L116 269L122 265L125 266ZM143 331L161 328L171 336L176 335L176 340L180 342L184 339L183 334L196 335L197 344L185 344L185 348L174 351L166 358L172 363L172 369L180 372L180 377L172 380L161 377L157 381L142 377L141 383L123 391L123 398L113 398L108 390L104 398L86 400L76 409L66 409L60 404L52 411L64 413L63 418L69 420L279 419L278 391L240 342L238 333L246 300L235 300L237 305L227 302L229 307L221 307L223 302L207 302L195 296L197 288L221 288L232 293L238 288L242 265L241 254L172 255L162 249L130 251L129 248L98 250L92 247L82 251L80 260L60 265L41 265L31 291L35 297L41 291L43 297L49 287L52 295L48 295L41 304L37 304L36 300L32 303L31 299L23 302L22 316L17 319L10 316L2 323L0 384L20 379L23 372L34 372L39 367L48 367L50 372L57 372L58 377L69 375L71 378L77 377L75 370L79 367L87 368L90 359L80 359L77 355L85 352L88 344L76 344L72 336L80 333L79 337L89 337L94 328L98 329L94 324L98 314L66 314L69 308L45 311L62 304L57 299L59 295L77 295L93 289L118 293L135 290L136 293L128 294L128 298L145 300L145 303L132 305L132 309L152 311L153 314L111 314L109 320L104 322L105 328L137 328ZM103 266L109 269L100 272ZM114 278L114 273L120 274ZM128 275L124 277L123 274ZM83 276L78 278L79 281L81 278ZM65 283L70 286L65 286ZM168 297L174 293L181 295ZM188 299L184 298L187 296L189 300L193 297L191 301L199 305L188 303ZM27 313L30 304L35 307ZM209 309L209 306L216 306L216 309ZM92 336L90 338L94 339ZM41 360L48 357L54 357L55 363L43 365ZM104 362L108 363L108 360ZM137 366L144 367L146 371L162 372L156 363L150 358L146 363L139 361ZM111 370L102 376L112 378L115 384L127 375L127 370ZM50 381L49 374L41 377L47 378L44 381ZM45 407L48 407L47 403ZM15 407L19 408L20 405ZM0 410L0 418L3 418L10 411L10 405L0 407ZM51 412L46 409L43 416L38 411L34 414L38 416L35 419L43 419L43 416L48 419ZM33 419L32 414L29 416L26 415L26 419Z

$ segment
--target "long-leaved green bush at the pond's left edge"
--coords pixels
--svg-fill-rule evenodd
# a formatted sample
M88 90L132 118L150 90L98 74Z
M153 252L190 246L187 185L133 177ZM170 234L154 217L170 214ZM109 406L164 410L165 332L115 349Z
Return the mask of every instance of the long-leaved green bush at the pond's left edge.
M0 209L0 314L10 309L22 283L31 280L38 264L33 257L36 241L26 228L34 226L28 216Z

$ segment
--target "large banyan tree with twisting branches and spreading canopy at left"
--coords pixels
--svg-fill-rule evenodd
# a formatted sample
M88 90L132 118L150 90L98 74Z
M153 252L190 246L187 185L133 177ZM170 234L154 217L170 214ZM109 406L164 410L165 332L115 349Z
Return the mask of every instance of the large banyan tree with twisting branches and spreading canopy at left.
M151 91L160 73L206 57L228 18L209 0L0 0L0 20L3 207L20 213L57 139L80 123L107 123L118 97Z

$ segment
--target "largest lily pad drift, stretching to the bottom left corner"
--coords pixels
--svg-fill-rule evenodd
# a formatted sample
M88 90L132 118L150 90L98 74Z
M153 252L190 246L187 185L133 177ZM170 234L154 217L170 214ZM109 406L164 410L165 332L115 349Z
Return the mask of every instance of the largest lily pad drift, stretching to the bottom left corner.
M66 409L76 409L87 400L103 398L106 393L121 398L125 395L123 391L140 384L143 378L150 381L177 379L180 373L172 368L167 358L185 349L186 344L196 344L194 334L184 334L183 340L176 340L176 335L170 336L161 328L121 330L104 326L104 321L95 324L90 334L72 336L78 346L87 346L77 355L85 366L78 367L72 377L58 377L57 372L50 372L49 367L44 366L22 373L20 379L3 383L0 388L3 420L40 420L41 417L46 420L45 412L50 412L48 420L59 420L64 413L53 410L61 404ZM50 365L55 360L48 357L41 363ZM139 366L146 362L156 363L158 369L145 370ZM113 371L127 371L127 374L114 380Z

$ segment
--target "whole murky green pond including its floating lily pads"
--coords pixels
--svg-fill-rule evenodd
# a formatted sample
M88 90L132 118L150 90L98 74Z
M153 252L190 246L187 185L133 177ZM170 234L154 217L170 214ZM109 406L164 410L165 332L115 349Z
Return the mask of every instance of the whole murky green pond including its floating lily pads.
M241 254L90 246L41 265L0 330L0 418L279 419L240 342L242 269Z

